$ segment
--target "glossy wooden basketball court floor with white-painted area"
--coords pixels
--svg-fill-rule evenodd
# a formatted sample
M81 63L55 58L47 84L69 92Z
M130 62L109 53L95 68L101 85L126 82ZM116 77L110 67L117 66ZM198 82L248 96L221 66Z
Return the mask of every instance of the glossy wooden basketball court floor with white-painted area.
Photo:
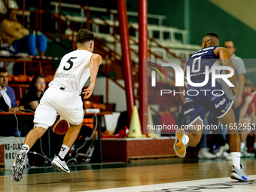
M244 159L251 181L230 179L231 162L226 160L136 160L69 166L70 174L55 168L25 169L23 179L12 181L10 169L1 170L1 191L255 191L256 162Z

